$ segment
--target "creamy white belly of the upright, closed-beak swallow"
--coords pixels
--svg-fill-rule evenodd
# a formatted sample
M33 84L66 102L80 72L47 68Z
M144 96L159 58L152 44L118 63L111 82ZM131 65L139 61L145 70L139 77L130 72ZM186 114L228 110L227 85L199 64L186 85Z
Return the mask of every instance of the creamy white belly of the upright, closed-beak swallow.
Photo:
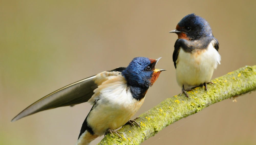
M210 82L214 69L220 64L220 54L213 41L206 49L195 49L191 53L180 48L176 61L176 80L185 90Z

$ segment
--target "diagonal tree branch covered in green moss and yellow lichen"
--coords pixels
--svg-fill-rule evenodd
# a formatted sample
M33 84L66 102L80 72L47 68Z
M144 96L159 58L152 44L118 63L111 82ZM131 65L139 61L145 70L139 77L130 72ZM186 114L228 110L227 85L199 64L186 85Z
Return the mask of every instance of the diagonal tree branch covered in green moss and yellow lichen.
M131 125L125 125L118 130L122 133L123 140L116 135L113 138L109 133L99 144L140 144L179 119L197 113L216 102L255 90L256 65L245 66L212 82L214 85L207 86L207 93L203 87L196 87L188 92L190 99L185 95L176 95L141 114L141 118L136 120L141 129L136 125L135 129Z

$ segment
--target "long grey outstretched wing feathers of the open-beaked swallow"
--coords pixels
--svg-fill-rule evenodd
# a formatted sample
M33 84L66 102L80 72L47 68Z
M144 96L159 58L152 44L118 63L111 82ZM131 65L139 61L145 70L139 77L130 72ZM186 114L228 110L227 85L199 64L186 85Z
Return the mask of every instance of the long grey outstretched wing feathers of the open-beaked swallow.
M124 69L124 67L120 67L112 71L121 72ZM12 122L40 111L87 102L93 95L93 90L98 87L94 82L94 78L95 75L67 85L46 95L21 111L12 119Z

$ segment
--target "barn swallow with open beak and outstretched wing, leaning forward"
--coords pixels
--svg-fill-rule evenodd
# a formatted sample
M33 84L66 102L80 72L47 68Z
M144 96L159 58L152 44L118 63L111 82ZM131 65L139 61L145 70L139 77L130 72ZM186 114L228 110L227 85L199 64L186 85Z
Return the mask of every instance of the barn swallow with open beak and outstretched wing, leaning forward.
M130 118L144 102L145 94L154 84L162 69L155 69L158 59L134 58L125 67L104 71L67 85L28 106L12 119L18 120L39 111L89 102L92 106L85 118L77 145L89 144L105 133L129 123L139 124Z

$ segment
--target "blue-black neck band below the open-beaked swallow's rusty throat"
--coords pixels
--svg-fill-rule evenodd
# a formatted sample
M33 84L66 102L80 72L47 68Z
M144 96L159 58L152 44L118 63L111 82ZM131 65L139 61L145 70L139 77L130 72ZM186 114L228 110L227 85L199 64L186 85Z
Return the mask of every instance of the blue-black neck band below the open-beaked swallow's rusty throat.
M145 97L148 89L148 87L140 87L140 86L129 86L129 87L132 93L132 97L137 101L140 101L142 98Z

